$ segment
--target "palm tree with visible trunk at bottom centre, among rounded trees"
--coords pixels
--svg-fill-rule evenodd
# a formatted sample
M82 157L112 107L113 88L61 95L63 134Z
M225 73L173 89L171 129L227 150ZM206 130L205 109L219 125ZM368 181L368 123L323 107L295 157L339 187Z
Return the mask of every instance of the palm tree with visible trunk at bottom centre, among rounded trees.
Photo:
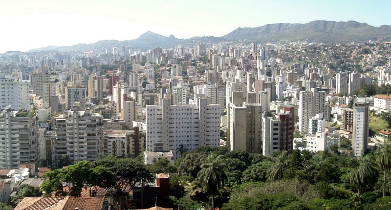
M215 208L215 195L218 189L224 187L227 180L227 175L224 172L225 163L222 156L216 156L212 152L201 159L201 170L198 171L197 177L201 185L203 185L212 195L212 210Z

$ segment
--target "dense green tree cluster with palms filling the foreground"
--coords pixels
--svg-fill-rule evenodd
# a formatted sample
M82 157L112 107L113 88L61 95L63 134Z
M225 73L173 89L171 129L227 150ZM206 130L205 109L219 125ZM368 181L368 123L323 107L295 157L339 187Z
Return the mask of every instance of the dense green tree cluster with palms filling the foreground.
M390 209L391 146L386 144L362 158L339 153L339 149L349 147L347 141L342 141L340 148L317 153L296 149L289 154L277 151L272 157L230 152L223 147L200 147L183 153L174 166L165 159L146 166L140 157L108 156L47 172L43 190L77 196L86 186L113 187L115 202L123 206L131 199L129 192L137 182L152 181L155 173L170 173L173 196L158 198L157 205L162 207ZM144 207L154 204L155 200L144 201Z

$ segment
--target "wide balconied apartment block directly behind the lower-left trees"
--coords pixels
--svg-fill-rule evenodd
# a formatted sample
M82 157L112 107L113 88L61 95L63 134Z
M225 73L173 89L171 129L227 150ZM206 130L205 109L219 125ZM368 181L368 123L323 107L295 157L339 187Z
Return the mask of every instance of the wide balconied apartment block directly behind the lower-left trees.
M52 139L52 163L61 155L73 164L102 158L103 117L90 110L66 111L52 118L55 128Z

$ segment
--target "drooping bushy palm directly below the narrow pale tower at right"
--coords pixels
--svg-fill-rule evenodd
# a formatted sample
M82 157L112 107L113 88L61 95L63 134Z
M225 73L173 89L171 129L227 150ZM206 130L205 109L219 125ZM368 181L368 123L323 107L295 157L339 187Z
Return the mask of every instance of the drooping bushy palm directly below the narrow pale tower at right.
M358 167L350 171L350 184L362 194L375 185L379 171L372 156L359 157L358 163Z

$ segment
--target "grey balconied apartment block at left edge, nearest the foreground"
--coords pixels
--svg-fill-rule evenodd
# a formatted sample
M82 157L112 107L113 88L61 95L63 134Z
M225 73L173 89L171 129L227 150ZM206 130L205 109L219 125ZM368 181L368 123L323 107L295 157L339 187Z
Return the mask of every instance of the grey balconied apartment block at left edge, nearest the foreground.
M0 168L38 163L36 116L26 110L0 113Z

